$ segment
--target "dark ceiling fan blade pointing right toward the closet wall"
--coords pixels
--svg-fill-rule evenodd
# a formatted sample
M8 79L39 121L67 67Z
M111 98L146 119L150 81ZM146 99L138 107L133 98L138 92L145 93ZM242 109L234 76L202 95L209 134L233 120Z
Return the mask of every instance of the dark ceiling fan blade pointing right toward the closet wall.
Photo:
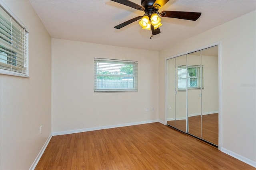
M196 21L201 16L201 12L162 11L161 16Z

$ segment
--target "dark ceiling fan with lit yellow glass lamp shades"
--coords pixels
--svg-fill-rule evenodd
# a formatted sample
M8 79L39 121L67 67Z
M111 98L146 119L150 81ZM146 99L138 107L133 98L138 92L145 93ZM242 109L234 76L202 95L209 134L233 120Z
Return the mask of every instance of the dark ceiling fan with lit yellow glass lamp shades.
M144 11L144 16L138 16L136 18L132 18L131 20L125 21L119 25L116 25L114 28L120 29L134 21L140 20L139 24L143 29L151 30L152 35L156 35L160 33L159 27L162 25L161 17L168 18L178 18L183 20L192 20L196 21L200 16L200 12L181 12L181 11L162 11L158 12L164 4L166 4L169 0L141 0L141 6L131 2L129 0L112 0L114 2L130 6L136 10ZM150 38L151 38L150 37Z

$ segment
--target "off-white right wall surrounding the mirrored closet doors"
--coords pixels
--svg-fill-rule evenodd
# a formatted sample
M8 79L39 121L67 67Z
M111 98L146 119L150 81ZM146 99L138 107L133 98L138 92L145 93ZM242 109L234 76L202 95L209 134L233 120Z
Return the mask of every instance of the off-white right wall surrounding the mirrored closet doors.
M165 59L221 41L222 150L256 166L256 11L159 52L159 119L165 120ZM254 84L254 86L242 86Z

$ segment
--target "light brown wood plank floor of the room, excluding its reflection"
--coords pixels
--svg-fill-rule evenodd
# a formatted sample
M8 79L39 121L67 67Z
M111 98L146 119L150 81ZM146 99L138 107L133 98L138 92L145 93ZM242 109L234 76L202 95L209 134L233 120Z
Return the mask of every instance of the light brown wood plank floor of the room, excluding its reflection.
M161 123L54 136L35 169L255 170Z

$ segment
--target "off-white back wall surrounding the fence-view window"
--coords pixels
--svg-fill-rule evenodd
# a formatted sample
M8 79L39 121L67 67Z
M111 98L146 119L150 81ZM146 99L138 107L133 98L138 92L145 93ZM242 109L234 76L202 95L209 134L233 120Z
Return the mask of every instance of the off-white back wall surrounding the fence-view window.
M94 57L138 61L138 92L94 93ZM52 39L52 132L152 120L157 51Z

